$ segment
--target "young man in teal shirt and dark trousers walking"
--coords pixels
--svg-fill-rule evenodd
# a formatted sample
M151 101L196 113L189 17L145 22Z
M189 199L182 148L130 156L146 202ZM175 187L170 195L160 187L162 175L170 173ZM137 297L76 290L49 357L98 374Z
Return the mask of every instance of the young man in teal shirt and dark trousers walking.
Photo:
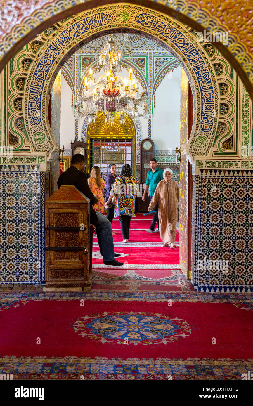
M150 201L153 197L153 194L155 193L156 186L160 182L160 180L163 180L163 171L161 168L157 167L156 163L156 158L152 158L149 161L149 171L147 173L147 180L145 184L145 189L143 193L142 200L145 200L147 190L149 188L149 198ZM158 220L158 203L155 205L154 210L156 210L156 213L153 214L153 221L151 223L151 226L147 230L148 233L159 233L159 220ZM157 223L158 228L155 230L155 225Z

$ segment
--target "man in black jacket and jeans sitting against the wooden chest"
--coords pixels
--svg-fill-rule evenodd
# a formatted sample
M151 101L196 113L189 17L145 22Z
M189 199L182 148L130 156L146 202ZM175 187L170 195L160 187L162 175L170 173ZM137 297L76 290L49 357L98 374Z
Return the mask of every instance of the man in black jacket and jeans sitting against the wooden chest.
M106 265L121 266L123 262L116 261L114 257L120 257L120 254L114 253L114 244L112 238L112 225L106 216L102 213L95 212L92 205L97 202L97 198L89 188L87 175L84 173L84 155L77 153L71 160L71 166L63 172L57 181L58 189L61 186L74 185L88 199L90 199L90 222L96 227L97 240L103 262Z

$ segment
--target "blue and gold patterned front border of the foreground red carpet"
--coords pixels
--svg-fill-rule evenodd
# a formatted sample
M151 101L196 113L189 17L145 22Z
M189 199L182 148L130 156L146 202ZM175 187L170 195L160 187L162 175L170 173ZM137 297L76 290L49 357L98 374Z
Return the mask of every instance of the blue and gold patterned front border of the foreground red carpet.
M253 360L230 358L0 357L13 379L242 379ZM171 378L170 378L171 377Z

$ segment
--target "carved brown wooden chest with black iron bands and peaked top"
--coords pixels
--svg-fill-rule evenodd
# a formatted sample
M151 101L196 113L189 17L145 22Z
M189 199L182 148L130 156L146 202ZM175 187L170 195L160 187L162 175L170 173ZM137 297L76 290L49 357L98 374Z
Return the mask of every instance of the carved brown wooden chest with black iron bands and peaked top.
M45 201L46 287L91 289L90 200L75 186L61 186Z

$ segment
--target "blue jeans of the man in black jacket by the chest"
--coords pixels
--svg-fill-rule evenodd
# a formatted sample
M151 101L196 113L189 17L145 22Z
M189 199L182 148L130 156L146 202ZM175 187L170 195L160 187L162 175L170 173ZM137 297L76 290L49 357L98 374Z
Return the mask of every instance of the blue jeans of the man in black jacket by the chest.
M112 238L112 223L102 213L97 214L98 224L96 226L97 241L103 261L114 260L114 244Z

